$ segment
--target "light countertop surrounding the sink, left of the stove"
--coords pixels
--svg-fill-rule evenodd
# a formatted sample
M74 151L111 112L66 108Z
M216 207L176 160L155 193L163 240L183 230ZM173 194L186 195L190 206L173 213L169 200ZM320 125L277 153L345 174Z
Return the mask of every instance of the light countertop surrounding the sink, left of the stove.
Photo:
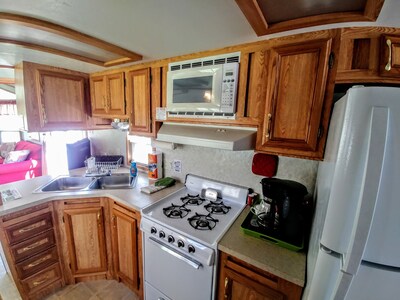
M119 173L124 172L128 173L129 169L120 168ZM84 174L84 169L73 170L70 173L73 176L82 175ZM41 176L0 185L0 190L16 188L22 196L20 199L7 201L3 203L3 205L0 205L0 216L48 201L88 197L109 197L122 204L128 205L133 209L141 210L143 207L146 207L147 205L154 203L183 187L182 183L176 183L172 187L147 195L140 192L140 188L147 186L152 182L149 181L147 174L138 172L137 182L133 189L32 193L36 188L41 187L53 178L54 177L51 176Z

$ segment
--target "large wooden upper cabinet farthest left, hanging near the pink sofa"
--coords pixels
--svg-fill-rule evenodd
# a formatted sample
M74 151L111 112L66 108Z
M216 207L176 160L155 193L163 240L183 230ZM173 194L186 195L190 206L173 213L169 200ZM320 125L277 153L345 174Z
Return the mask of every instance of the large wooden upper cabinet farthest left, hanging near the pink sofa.
M15 75L18 112L29 131L86 128L87 74L23 62Z

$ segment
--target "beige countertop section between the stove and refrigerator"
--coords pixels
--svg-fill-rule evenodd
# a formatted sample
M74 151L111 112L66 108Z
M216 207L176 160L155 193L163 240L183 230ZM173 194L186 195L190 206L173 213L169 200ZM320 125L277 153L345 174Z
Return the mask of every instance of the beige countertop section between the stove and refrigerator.
M257 268L304 286L306 254L294 252L243 233L240 225L249 213L245 208L218 244L218 249Z

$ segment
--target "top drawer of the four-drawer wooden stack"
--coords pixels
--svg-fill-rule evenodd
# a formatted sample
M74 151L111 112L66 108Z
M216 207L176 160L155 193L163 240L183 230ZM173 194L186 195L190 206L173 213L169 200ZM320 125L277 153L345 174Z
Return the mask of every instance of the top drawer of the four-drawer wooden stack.
M33 217L5 229L8 242L14 245L53 227L51 212Z

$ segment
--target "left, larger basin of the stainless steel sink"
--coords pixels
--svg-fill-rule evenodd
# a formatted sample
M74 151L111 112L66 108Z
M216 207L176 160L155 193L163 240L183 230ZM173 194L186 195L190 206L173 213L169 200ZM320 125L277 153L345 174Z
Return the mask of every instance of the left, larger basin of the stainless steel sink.
M87 190L96 181L96 178L91 177L57 177L46 183L44 186L35 190L36 193L40 192L68 192L68 191L82 191Z

